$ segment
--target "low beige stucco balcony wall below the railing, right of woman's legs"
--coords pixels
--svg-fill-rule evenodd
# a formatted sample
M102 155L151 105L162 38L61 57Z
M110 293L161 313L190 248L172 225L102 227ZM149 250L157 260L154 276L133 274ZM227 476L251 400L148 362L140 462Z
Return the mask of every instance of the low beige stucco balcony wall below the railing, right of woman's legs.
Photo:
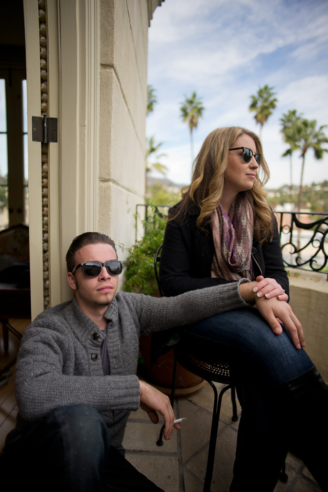
M306 352L328 383L328 281L326 275L290 269L290 304L301 321Z

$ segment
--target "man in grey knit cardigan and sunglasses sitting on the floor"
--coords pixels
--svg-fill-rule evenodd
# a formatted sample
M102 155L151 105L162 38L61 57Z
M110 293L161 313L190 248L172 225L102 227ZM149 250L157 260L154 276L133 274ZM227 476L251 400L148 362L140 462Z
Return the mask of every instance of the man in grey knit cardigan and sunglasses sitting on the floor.
M19 462L11 482L34 490L160 491L125 460L121 445L129 413L139 406L154 423L157 411L163 415L165 439L173 426L179 429L167 396L135 375L140 332L191 324L256 299L272 329L276 317L300 338L301 327L285 302L256 296L255 285L285 299L280 286L262 277L171 298L116 294L123 262L114 242L99 233L77 236L66 261L75 298L39 314L24 334L17 426L2 464Z

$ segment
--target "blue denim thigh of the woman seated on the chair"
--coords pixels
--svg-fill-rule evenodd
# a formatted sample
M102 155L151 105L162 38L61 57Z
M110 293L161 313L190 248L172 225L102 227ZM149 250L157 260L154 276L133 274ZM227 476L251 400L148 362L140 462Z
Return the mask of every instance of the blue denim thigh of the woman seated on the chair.
M243 364L243 373L267 384L286 383L313 367L305 351L294 347L288 331L283 327L281 335L275 335L256 309L217 314L190 325L186 331L199 344L211 340L219 351L227 347L236 363Z

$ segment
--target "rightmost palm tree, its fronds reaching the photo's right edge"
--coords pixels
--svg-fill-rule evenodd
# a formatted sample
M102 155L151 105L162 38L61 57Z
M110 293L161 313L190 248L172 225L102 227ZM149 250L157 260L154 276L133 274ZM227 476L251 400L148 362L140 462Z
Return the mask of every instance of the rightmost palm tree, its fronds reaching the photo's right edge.
M316 120L309 121L306 119L302 119L299 122L299 139L296 144L299 145L299 148L301 149L300 157L302 158L302 171L298 194L298 212L300 211L302 205L305 154L306 152L308 152L309 148L312 148L314 151L314 157L316 159L322 159L323 153L328 152L328 149L322 147L322 144L328 143L328 138L323 132L323 128L325 128L327 125L322 125L318 129L316 129L316 125Z

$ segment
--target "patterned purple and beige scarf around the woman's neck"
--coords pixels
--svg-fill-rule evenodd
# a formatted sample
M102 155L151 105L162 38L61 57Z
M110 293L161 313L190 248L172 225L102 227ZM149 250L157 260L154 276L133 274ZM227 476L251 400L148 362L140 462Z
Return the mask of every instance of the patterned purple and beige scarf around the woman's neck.
M254 216L250 201L238 195L229 215L219 204L211 214L214 256L211 277L255 280L251 260Z

